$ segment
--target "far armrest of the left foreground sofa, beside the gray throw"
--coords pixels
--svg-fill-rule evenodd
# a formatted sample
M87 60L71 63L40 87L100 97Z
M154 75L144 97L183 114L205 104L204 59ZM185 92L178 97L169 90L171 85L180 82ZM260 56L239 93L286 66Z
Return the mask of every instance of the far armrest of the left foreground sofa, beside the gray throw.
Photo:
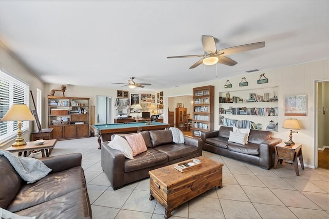
M68 170L72 167L81 167L81 153L64 154L53 157L39 158L47 167L52 169L50 173Z

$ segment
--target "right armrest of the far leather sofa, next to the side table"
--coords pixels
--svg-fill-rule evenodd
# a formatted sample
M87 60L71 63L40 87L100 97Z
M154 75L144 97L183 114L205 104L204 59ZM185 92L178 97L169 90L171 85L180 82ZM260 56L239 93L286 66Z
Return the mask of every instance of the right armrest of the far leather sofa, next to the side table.
M269 170L274 165L275 145L281 143L281 138L270 138L260 143L259 157L260 166Z

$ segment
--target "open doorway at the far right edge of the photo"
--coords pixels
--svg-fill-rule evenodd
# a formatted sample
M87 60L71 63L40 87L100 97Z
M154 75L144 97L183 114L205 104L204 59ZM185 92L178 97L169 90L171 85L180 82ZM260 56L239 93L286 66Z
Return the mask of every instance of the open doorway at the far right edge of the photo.
M329 169L329 81L316 82L316 154L318 167Z

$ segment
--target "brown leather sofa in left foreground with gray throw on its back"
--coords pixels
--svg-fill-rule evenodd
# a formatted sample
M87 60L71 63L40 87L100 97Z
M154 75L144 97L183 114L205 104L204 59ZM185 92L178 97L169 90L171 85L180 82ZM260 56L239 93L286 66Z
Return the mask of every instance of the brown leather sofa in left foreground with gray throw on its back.
M36 218L92 218L81 154L40 158L52 171L26 184L0 155L0 207Z

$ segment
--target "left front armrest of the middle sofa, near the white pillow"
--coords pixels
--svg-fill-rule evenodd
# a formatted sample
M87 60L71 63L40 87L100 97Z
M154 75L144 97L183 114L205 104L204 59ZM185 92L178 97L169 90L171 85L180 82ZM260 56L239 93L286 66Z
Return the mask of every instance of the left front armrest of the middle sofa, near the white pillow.
M124 184L124 160L122 152L108 147L106 142L101 147L101 165L114 190Z

